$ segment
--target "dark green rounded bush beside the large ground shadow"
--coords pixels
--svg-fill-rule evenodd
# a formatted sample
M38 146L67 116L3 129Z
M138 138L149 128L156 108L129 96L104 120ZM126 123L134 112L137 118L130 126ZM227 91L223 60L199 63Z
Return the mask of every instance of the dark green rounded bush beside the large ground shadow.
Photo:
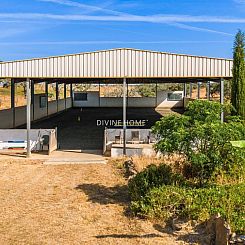
M132 200L139 200L149 190L162 185L186 185L184 178L173 173L171 167L165 164L149 165L129 181L129 193Z

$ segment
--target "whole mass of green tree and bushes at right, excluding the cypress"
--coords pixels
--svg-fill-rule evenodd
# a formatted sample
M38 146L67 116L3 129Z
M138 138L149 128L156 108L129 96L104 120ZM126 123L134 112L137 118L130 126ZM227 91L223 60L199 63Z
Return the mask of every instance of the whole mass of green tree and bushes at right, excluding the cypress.
M135 214L204 221L220 213L234 231L245 231L245 124L239 117L221 123L220 112L227 109L196 100L184 115L155 124L156 151L183 161L178 169L150 165L130 180Z

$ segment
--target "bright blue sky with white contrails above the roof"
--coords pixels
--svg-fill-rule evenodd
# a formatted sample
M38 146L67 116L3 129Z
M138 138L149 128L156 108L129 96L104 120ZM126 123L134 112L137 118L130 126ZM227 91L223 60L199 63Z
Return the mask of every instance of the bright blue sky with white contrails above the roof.
M137 48L232 58L245 0L1 0L0 60Z

